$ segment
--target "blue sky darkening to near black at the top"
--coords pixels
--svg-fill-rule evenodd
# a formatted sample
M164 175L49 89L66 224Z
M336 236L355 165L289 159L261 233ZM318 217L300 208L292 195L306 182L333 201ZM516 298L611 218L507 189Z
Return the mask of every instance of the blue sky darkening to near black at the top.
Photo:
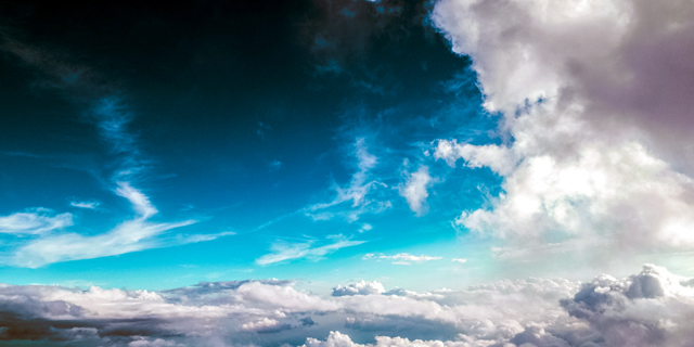
M31 25L47 15L38 8L20 34L7 31L1 207L7 228L24 229L4 232L0 281L163 290L323 281L336 269L375 279L440 272L478 253L484 241L452 220L497 194L499 177L433 157L438 138L500 141L470 60L414 22L423 4L294 5L323 12L290 11L281 30L248 24L250 37L219 20L179 39L149 28L152 37L114 46L72 38L82 27ZM152 14L162 25L177 15L187 14ZM414 172L428 196L410 202ZM400 253L441 259L361 259Z

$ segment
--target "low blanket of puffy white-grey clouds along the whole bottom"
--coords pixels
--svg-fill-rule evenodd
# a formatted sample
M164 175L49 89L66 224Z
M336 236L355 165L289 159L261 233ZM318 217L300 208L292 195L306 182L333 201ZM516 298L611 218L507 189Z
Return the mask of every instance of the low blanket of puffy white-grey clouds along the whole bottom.
M70 346L685 346L694 338L691 283L646 265L621 280L599 275L580 285L528 279L416 293L361 281L336 286L332 297L279 280L204 282L158 293L3 285L0 339Z

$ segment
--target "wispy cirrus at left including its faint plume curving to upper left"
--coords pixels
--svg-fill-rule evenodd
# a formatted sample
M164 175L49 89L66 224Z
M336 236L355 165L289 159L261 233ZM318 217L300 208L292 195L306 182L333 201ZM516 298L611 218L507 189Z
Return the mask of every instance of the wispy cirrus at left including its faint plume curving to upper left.
M59 232L73 226L70 214L52 216L48 209L34 209L0 217L0 231L5 233L36 234L11 250L2 262L18 267L41 267L52 262L91 259L119 255L149 248L166 247L185 243L210 241L233 232L201 235L179 235L164 237L172 229L197 222L189 219L174 222L152 221L158 214L150 197L136 185L141 185L142 174L150 167L150 160L140 150L139 136L131 129L134 113L127 104L126 93L118 91L102 78L98 72L79 64L69 63L69 54L41 49L0 31L0 50L15 57L15 62L40 73L39 79L49 81L46 87L62 89L64 95L80 106L87 105L85 117L94 125L100 139L108 147L112 162L104 167L107 177L94 174L105 189L130 202L134 216L100 234ZM82 120L83 120L82 119ZM94 209L95 201L73 201L70 206Z

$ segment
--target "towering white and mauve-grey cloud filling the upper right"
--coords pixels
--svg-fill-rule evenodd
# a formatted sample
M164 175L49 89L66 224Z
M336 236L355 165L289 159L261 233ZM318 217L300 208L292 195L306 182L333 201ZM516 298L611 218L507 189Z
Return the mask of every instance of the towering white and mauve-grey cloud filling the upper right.
M694 245L694 3L441 0L501 144L442 139L435 157L503 177L455 222L510 240L628 249Z

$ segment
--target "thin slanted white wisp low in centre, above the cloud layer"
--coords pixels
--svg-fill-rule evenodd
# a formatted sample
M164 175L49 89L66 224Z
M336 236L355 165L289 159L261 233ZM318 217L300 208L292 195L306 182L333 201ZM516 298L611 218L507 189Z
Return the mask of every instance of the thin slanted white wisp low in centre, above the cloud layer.
M345 247L357 246L365 241L350 241L343 235L329 236L332 243L314 247L316 240L309 240L307 242L287 243L277 242L272 244L272 253L264 255L256 259L258 265L271 265L275 262L294 260L294 259L320 259L322 256L338 250Z

